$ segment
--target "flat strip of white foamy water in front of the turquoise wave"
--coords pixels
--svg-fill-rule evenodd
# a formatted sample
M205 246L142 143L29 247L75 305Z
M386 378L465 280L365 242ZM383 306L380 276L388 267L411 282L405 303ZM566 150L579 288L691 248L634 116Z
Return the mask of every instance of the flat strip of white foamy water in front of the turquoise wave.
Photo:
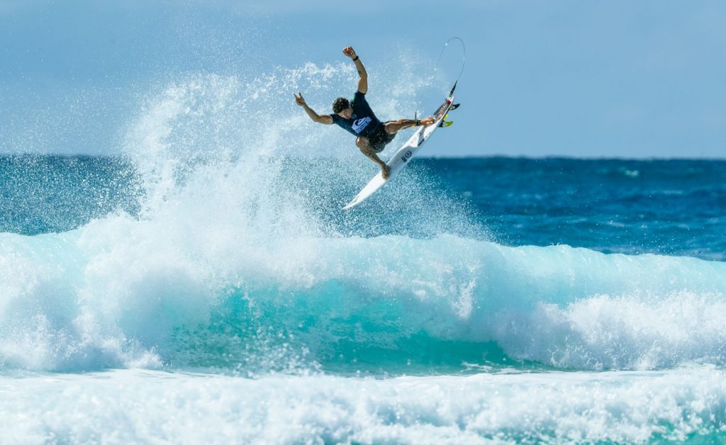
M118 371L0 380L10 443L484 443L724 433L726 375L481 374L389 380Z

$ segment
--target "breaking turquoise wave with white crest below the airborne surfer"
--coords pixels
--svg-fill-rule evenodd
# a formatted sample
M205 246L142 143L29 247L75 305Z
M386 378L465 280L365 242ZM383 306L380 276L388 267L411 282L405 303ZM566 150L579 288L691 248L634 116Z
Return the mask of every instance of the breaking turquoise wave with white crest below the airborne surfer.
M718 262L451 235L267 245L211 237L200 250L183 232L150 236L153 224L113 223L103 221L100 238L94 224L2 235L4 366L724 364L726 265Z

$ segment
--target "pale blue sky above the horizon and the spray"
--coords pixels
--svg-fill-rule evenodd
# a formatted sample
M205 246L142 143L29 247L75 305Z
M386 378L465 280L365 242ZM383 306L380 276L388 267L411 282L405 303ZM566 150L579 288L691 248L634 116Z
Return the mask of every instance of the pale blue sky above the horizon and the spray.
M463 105L428 155L726 158L726 2L673 0L0 0L0 152L113 153L148 86L180 73L352 45L374 78L454 35Z

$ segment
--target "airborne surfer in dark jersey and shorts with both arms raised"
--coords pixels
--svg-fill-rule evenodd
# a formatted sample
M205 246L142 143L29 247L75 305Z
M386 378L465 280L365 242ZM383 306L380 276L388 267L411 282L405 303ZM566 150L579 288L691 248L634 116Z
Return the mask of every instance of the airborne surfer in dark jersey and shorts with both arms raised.
M391 168L386 166L386 163L378 158L378 153L382 152L386 145L396 137L396 133L403 128L409 128L413 126L428 126L433 123L433 118L428 117L421 121L413 119L399 119L398 121L386 121L381 122L373 114L373 110L370 109L370 105L365 99L365 94L368 92L368 73L366 73L363 64L356 52L351 46L343 49L343 54L350 57L356 64L360 80L358 81L358 91L354 95L353 99L348 101L343 97L338 97L333 102L333 113L332 115L319 115L315 113L311 107L305 103L303 95L298 92L295 96L295 102L303 107L305 113L308 113L310 118L318 123L325 123L330 125L335 123L340 128L357 136L356 145L361 152L368 158L371 158L373 162L380 166L381 174L383 179L388 179L391 174Z

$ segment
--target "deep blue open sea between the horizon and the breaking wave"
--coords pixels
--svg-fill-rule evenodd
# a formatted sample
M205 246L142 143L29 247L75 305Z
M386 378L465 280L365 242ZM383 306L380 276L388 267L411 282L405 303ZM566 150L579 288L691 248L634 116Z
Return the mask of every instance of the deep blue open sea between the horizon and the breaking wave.
M0 232L66 232L110 213L139 216L143 190L129 160L89 156L0 158ZM314 171L320 161L285 160L285 171ZM301 165L302 164L302 165ZM324 164L335 176L334 162ZM456 203L474 227L451 228L502 245L570 245L603 253L726 258L726 162L576 158L417 160L406 172L433 191L431 211ZM303 182L309 178L299 175ZM319 178L316 178L320 181ZM338 212L354 181L328 179L309 200L335 232L431 237L441 227L412 215L421 192L385 189L367 203L366 221ZM304 187L301 185L301 187ZM389 201L394 200L393 205ZM457 222L444 222L445 226Z

